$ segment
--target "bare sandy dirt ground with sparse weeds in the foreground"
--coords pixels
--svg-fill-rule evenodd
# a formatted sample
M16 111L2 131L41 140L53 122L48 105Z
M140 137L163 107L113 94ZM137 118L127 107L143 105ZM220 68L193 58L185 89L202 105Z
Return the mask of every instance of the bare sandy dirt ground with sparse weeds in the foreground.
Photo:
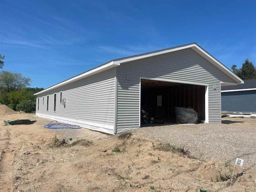
M36 122L14 126L2 122L17 118ZM233 165L229 162L194 159L186 149L180 153L179 148L143 139L136 131L118 138L120 134L84 128L43 128L50 121L33 114L0 116L1 192L256 191L253 166L237 166L230 188ZM73 144L63 144L62 137L72 137Z

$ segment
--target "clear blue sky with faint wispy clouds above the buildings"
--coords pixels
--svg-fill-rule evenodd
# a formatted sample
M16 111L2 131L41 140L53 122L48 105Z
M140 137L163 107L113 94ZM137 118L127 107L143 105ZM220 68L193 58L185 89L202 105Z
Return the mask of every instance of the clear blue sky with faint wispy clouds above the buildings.
M115 58L196 42L256 65L256 1L0 0L4 70L47 88Z

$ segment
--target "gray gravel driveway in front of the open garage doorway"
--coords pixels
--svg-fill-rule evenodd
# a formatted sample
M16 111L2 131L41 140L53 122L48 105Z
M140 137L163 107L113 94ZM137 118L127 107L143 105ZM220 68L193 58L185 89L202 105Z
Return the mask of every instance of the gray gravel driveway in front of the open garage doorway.
M138 128L134 134L189 148L200 160L256 164L256 118L222 118L222 124L180 124Z

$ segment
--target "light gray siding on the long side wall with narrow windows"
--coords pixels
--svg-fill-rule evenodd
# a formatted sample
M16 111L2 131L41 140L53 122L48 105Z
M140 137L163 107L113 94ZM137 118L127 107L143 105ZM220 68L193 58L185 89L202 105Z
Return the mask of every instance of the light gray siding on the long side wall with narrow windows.
M72 119L103 124L114 133L115 113L115 76L116 70L101 72L82 80L49 90L37 95L36 114L58 119ZM66 107L60 104L60 91L62 98L66 99ZM54 107L54 93L56 95L56 112ZM49 95L49 110L46 111L47 95ZM42 103L44 96L44 104ZM90 126L97 130L97 126Z

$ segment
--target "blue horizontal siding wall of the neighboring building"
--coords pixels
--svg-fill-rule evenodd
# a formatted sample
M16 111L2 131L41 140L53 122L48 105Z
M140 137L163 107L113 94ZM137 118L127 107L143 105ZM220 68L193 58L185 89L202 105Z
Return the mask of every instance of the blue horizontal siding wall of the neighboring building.
M221 93L222 111L256 112L256 90Z

